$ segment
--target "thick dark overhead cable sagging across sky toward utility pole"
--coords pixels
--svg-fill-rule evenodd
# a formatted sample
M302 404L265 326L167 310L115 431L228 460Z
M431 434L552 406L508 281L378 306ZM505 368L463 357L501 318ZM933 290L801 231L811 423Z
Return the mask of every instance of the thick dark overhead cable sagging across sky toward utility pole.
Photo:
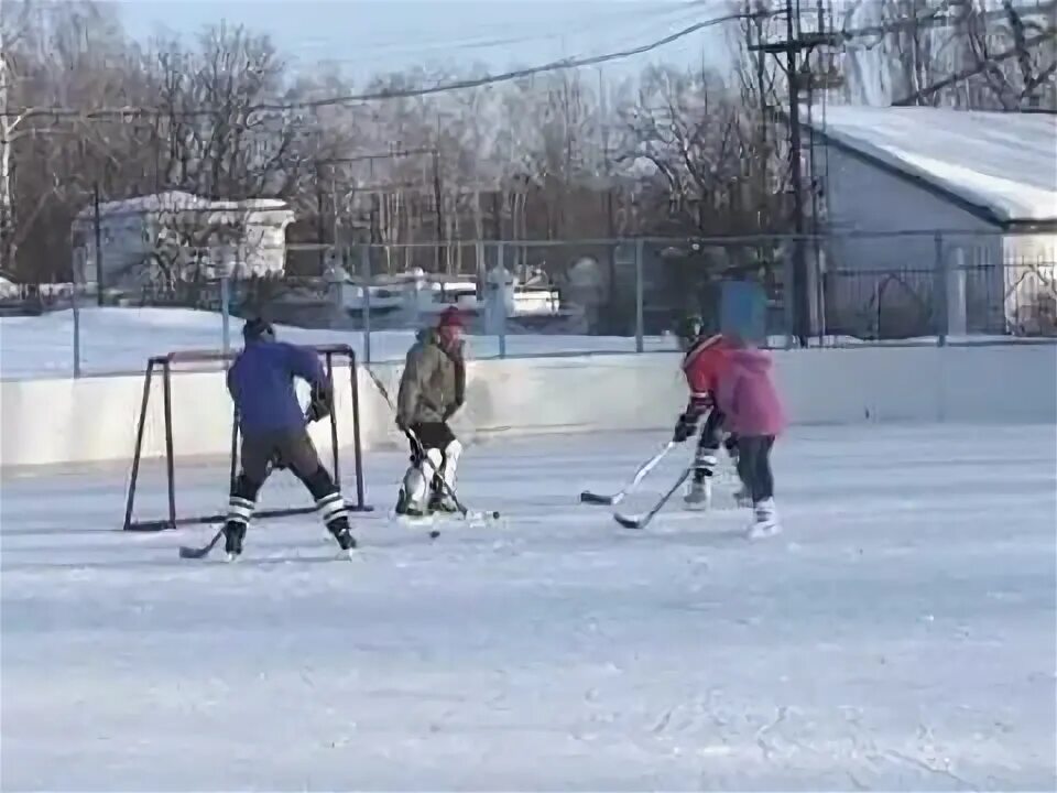
M510 83L512 80L523 79L525 77L532 77L538 74L545 74L549 72L559 72L565 69L581 68L584 66L596 66L598 64L609 63L611 61L620 61L628 57L634 57L635 55L642 55L644 53L651 52L653 50L658 50L663 46L671 44L674 41L683 39L708 28L715 28L717 25L726 24L728 22L735 22L739 20L745 19L756 19L760 17L771 17L773 12L761 11L755 13L732 13L723 17L716 17L704 22L696 22L691 25L683 28L682 30L676 31L669 35L658 39L656 41L650 42L649 44L642 44L641 46L632 47L630 50L620 50L617 52L604 53L602 55L592 55L589 57L575 57L575 58L563 58L560 61L553 61L551 63L542 64L540 66L532 66L527 68L512 69L509 72L502 72L495 75L489 75L486 77L477 77L472 79L458 79L449 80L445 83L438 83L435 86L428 86L424 88L393 88L381 91L367 91L360 94L347 94L333 97L326 97L323 99L313 99L306 101L296 101L296 102L262 102L253 107L247 108L246 112L294 112L294 111L310 111L318 110L322 108L328 107L339 107L344 105L352 105L357 102L370 102L370 101L384 101L389 99L413 99L424 96L433 96L436 94L446 94L454 90L466 90L469 88L481 88L489 85L494 85L497 83ZM162 108L148 108L148 107L110 107L110 108L100 108L98 110L74 110L72 108L63 107L52 107L52 108L25 108L22 111L7 111L0 113L0 118L18 118L19 120L25 120L33 117L44 117L44 118L76 118L84 120L95 120L102 118L118 118L118 119L133 119L142 117L168 117L168 118L208 118L216 113L215 110L172 110L172 109L162 109Z

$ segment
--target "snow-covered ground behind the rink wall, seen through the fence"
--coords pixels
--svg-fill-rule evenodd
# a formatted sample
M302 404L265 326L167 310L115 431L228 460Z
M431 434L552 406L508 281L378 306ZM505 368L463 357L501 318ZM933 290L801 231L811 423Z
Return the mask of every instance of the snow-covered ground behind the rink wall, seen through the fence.
M175 349L220 349L219 314L187 308L85 308L80 312L80 361L86 374L141 372L146 359ZM242 346L242 321L231 322L231 344ZM283 339L298 344L347 344L363 354L359 330L306 330L280 327ZM371 334L371 360L403 360L414 340L412 330ZM646 349L675 349L675 341L646 339ZM618 336L506 337L506 355L567 355L574 352L634 352L635 339ZM499 338L470 336L471 358L499 356ZM0 377L70 376L74 372L74 313L40 317L0 317Z

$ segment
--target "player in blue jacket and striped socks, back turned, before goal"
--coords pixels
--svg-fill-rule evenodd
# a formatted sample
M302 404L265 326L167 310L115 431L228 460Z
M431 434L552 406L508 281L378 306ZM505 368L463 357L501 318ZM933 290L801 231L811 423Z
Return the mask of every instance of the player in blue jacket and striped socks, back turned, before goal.
M305 347L276 341L275 329L263 319L248 321L242 338L246 346L228 370L228 391L242 433L242 469L231 489L224 528L228 558L242 553L257 495L273 466L290 468L304 482L327 530L342 551L351 551L356 540L348 508L308 436L307 423L327 416L334 402L318 357ZM312 385L307 413L297 401L294 378Z

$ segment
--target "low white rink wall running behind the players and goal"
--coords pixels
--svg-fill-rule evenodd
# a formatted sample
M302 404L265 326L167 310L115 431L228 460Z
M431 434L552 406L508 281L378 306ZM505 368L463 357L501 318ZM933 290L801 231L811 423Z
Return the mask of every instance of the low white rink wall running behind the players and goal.
M776 351L777 377L798 424L864 422L1051 423L1057 347L861 347ZM397 365L373 371L395 398ZM351 389L337 383L339 443L352 443ZM143 377L0 381L0 467L129 461ZM360 372L364 449L396 444L392 415ZM686 399L674 354L522 358L470 363L468 441L504 435L667 430ZM144 432L145 458L165 454L161 378ZM222 372L173 374L178 459L228 454L231 404ZM344 421L342 421L344 420ZM328 425L316 425L322 448Z

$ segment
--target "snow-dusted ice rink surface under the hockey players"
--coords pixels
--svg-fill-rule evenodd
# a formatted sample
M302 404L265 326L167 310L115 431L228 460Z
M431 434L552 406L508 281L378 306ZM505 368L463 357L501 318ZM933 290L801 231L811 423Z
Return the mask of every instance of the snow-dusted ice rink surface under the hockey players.
M1054 426L797 428L755 543L732 507L577 503L664 441L473 447L464 499L504 522L432 542L371 454L356 562L310 515L182 561L213 530L116 531L124 470L7 478L2 787L1055 787ZM182 468L182 510L225 480Z

